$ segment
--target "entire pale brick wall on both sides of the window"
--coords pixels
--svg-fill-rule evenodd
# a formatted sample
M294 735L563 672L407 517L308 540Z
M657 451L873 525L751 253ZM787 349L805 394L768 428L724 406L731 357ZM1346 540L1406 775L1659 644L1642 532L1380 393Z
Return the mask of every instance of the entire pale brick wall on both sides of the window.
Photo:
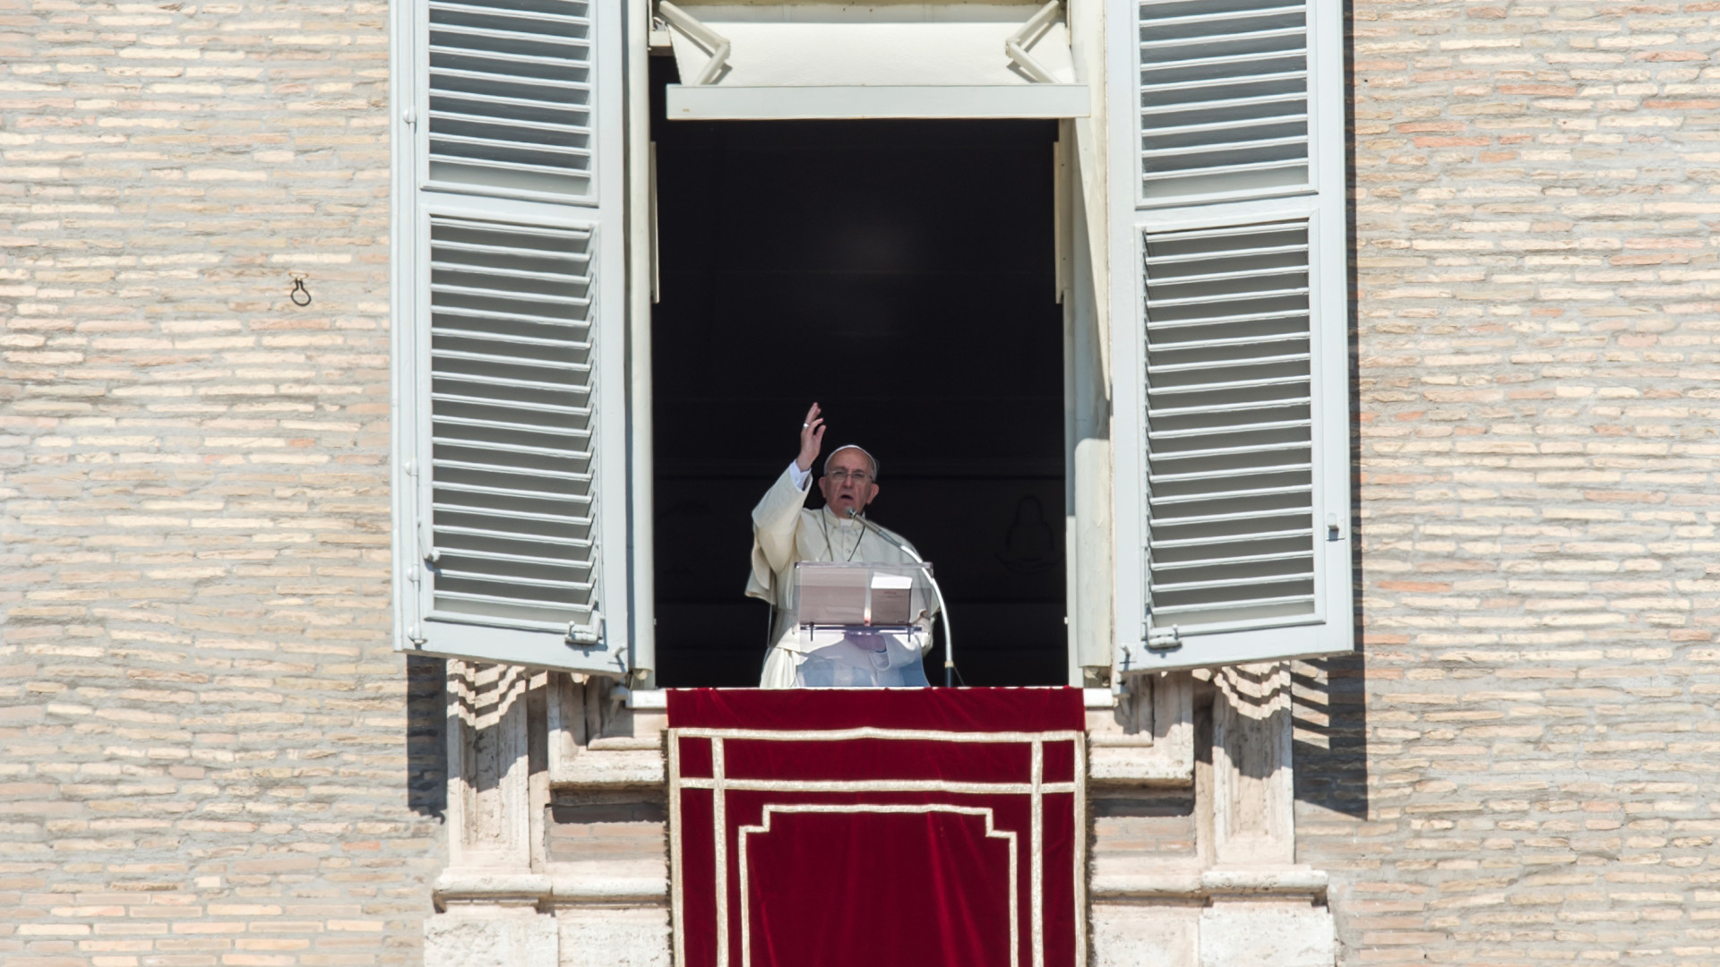
M418 960L384 15L0 0L9 967ZM1345 964L1720 962L1717 17L1354 5L1366 659L1297 678Z

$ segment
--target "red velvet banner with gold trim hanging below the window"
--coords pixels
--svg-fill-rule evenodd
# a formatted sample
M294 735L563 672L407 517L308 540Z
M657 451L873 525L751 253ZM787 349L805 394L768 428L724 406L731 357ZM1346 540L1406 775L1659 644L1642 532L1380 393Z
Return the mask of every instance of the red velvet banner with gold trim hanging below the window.
M1085 960L1078 688L674 690L678 967Z

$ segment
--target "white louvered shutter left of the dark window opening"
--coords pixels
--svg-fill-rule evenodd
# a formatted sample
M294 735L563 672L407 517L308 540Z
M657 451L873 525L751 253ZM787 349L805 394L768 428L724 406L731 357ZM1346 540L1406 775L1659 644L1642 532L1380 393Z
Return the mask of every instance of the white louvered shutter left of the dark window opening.
M401 647L628 671L616 17L413 0L396 21Z

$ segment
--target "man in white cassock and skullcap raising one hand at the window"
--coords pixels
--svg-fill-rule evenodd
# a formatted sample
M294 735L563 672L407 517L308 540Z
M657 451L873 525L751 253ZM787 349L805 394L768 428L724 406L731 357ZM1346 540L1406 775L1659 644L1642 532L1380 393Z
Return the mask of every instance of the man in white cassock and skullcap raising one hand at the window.
M845 561L908 564L913 557L891 544L913 547L901 535L858 518L877 497L877 461L858 446L836 447L824 461L819 490L824 506L807 509L812 465L824 449L824 416L814 403L800 425L800 454L753 508L752 575L746 595L776 606L771 652L764 659L762 688L927 685L922 664L931 644L931 614L920 633L848 635L812 638L795 625L795 564ZM870 525L870 527L869 527ZM889 535L875 533L877 528ZM918 551L915 549L915 554ZM936 609L936 607L934 607Z

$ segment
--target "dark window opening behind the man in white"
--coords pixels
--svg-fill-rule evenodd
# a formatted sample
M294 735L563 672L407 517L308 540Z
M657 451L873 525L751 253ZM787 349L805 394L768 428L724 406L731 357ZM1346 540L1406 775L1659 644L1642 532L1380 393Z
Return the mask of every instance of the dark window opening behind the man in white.
M659 683L759 683L750 511L814 399L824 456L877 454L870 516L934 563L961 680L1063 683L1056 122L664 122L654 69Z

